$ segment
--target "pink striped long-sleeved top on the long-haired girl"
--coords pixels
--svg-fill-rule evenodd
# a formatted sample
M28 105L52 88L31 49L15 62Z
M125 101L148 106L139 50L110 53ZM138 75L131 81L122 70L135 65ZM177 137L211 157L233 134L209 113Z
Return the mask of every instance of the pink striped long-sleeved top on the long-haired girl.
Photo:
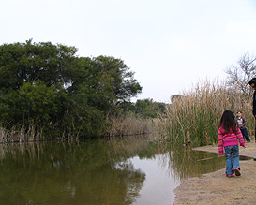
M222 126L218 129L218 154L222 155L224 154L223 148L227 146L233 146L238 145L238 140L240 143L240 146L246 146L245 139L243 138L241 130L237 128L237 132L233 132L232 129L230 129L229 133L226 133L224 128ZM237 140L238 139L238 140Z

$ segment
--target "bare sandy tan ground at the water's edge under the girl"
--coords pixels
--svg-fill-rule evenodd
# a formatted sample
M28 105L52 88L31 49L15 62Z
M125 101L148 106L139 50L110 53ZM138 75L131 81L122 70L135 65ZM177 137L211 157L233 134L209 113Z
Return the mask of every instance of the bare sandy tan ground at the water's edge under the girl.
M240 148L240 155L256 157L254 139ZM198 151L218 153L217 146L195 148ZM256 205L256 161L240 160L241 176L228 178L225 168L216 172L203 174L201 177L185 180L174 189L178 204L255 204Z

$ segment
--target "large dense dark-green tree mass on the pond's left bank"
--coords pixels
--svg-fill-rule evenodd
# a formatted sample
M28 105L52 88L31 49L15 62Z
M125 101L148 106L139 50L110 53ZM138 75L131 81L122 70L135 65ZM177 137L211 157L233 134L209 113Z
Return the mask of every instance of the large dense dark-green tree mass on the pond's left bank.
M46 136L103 133L107 113L141 93L121 59L79 57L75 47L51 42L0 46L0 123L39 124Z

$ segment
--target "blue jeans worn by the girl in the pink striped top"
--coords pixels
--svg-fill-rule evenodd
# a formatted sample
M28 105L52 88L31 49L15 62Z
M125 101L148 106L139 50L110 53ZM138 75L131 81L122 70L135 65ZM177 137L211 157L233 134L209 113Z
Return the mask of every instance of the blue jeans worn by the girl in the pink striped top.
M239 168L239 147L238 145L224 147L226 155L226 174L233 174L233 168Z

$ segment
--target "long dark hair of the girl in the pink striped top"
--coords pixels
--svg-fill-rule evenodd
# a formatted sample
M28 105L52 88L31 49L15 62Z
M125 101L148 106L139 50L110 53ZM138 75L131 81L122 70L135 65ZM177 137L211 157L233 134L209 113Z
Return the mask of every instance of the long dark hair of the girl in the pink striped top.
M232 129L233 132L237 132L237 122L235 116L231 110L225 110L219 122L219 127L222 126L226 133L229 133Z

